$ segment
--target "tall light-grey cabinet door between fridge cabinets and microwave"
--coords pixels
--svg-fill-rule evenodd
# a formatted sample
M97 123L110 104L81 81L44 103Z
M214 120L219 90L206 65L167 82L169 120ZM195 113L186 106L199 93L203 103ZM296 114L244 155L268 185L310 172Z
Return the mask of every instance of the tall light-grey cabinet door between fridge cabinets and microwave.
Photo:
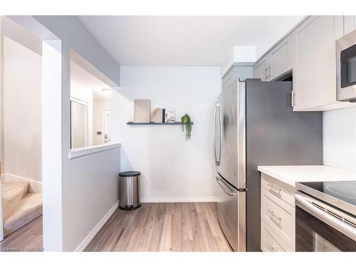
M310 16L293 31L293 110L322 110L337 103L336 19Z

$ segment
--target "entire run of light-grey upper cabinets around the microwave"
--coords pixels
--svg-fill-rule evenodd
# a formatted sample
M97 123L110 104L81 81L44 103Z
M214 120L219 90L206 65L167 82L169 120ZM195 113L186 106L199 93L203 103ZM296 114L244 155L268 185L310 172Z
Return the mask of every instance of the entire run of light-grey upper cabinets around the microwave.
M254 66L254 78L275 80L293 70L293 110L355 106L337 101L335 41L356 29L356 16L308 16Z

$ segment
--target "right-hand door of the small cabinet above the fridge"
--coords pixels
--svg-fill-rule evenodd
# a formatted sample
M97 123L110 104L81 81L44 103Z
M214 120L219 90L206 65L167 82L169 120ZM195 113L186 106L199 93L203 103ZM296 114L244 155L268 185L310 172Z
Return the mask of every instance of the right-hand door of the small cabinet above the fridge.
M269 80L278 78L292 69L292 41L291 36L278 43L271 51L271 63L269 66Z

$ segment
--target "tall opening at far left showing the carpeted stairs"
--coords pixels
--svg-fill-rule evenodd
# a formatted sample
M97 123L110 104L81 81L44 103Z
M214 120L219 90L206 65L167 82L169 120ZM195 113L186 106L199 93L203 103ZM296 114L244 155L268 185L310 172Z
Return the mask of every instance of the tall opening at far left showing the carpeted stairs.
M42 41L0 19L0 251L26 239L42 250Z

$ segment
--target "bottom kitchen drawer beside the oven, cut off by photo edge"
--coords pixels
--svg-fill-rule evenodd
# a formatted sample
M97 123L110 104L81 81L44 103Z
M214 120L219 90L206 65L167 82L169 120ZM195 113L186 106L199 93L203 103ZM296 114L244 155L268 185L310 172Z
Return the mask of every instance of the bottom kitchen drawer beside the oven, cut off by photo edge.
M293 251L268 224L261 221L261 251Z

